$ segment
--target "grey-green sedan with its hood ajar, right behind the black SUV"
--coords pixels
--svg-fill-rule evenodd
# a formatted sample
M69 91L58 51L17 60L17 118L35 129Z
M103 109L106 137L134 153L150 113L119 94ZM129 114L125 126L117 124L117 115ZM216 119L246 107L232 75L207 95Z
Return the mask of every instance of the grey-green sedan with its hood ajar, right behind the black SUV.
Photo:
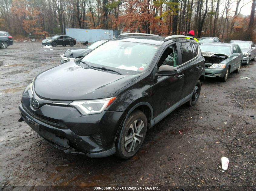
M204 43L200 49L205 59L205 77L227 81L231 72L239 72L243 54L237 44Z

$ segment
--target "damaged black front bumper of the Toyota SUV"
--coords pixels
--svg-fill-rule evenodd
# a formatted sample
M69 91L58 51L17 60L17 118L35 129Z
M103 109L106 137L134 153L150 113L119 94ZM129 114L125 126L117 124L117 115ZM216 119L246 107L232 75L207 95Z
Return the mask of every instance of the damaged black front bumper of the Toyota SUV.
M45 107L44 111L52 110L52 106L42 107ZM65 107L58 109L61 112ZM59 120L62 122L58 125L52 121L48 122L45 118L41 119L23 104L19 105L22 119L54 147L66 153L85 154L88 157L106 157L114 154L115 136L124 113L104 111L90 116L76 116L78 111L72 109L68 108L63 112L73 112L70 114L72 117Z

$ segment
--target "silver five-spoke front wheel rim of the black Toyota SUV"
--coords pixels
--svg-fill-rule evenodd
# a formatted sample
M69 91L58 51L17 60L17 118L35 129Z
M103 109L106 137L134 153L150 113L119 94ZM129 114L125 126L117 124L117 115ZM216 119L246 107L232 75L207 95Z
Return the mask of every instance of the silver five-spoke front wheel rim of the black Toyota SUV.
M141 119L135 120L129 127L125 136L125 150L134 151L143 140L145 125Z

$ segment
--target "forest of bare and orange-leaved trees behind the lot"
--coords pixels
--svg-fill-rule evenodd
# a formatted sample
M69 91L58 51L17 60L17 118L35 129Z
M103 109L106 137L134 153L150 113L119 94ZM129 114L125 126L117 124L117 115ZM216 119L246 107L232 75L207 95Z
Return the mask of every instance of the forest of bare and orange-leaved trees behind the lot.
M194 30L198 38L255 41L255 6L256 0L0 0L0 30L16 37L66 28L161 36Z

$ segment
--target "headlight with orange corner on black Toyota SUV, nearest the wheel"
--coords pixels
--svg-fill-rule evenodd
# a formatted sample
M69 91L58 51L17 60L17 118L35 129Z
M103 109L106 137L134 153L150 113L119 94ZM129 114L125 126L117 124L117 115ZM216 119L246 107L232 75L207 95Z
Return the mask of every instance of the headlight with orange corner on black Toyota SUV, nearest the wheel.
M98 99L98 100L79 100L69 103L74 106L82 115L101 113L115 101L116 97Z

